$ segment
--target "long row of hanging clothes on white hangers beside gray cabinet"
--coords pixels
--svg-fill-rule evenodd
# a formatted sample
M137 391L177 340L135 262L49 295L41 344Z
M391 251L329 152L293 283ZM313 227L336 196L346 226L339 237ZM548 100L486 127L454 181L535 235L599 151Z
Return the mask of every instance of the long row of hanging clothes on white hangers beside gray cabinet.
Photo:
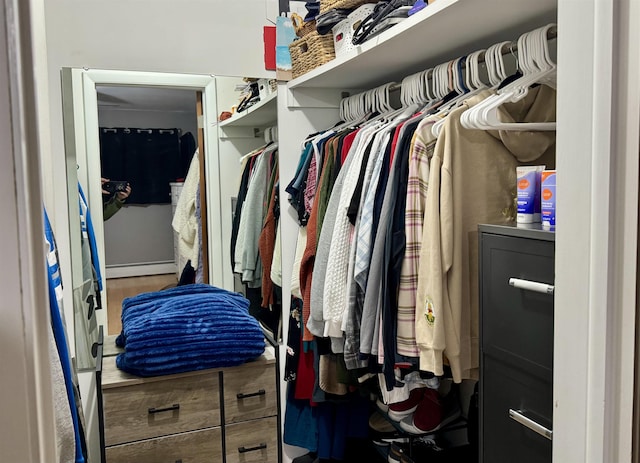
M316 411L318 445L307 445L320 458L341 458L339 444L323 450L325 426L340 433L332 407L369 378L384 404L415 402L416 420L400 424L408 433L457 419L457 388L451 406L438 389L443 376L477 378L477 227L514 220L516 166L555 165L555 133L462 126L462 114L494 93L464 82L463 60L434 70L428 93L439 101L409 102L404 81L398 111L376 100L388 86L343 101L341 114L356 121L308 135L287 186L299 223L286 365L298 401L291 416ZM522 92L498 109L502 123L555 120L554 90ZM427 408L423 420L418 409ZM290 425L285 419L285 431Z

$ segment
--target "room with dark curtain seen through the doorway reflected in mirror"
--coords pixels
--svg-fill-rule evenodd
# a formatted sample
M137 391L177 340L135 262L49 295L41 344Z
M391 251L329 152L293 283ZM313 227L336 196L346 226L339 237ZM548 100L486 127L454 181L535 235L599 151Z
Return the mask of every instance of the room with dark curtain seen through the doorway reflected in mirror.
M180 233L172 226L197 148L196 92L127 86L96 90L101 177L125 182L130 189L122 199L119 192L104 191L102 198L108 334L118 334L125 298L175 286L187 262L199 268L202 281L197 252L188 258L193 250L180 246ZM178 230L186 222L176 223Z

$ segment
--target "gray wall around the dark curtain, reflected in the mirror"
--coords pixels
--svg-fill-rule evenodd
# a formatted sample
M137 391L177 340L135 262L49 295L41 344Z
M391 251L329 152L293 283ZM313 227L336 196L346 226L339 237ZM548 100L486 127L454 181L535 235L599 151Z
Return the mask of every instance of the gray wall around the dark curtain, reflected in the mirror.
M191 112L99 107L98 119L100 127L178 128L182 133L191 132L197 143L195 92ZM143 206L125 203L125 207L104 223L107 267L173 262L172 218L171 204Z

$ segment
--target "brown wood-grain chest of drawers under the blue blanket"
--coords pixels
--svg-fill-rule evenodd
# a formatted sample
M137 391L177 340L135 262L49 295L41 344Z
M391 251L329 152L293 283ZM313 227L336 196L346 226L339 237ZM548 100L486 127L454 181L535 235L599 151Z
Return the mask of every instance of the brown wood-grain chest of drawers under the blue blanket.
M233 368L140 378L119 370L105 341L106 463L278 463L275 349Z

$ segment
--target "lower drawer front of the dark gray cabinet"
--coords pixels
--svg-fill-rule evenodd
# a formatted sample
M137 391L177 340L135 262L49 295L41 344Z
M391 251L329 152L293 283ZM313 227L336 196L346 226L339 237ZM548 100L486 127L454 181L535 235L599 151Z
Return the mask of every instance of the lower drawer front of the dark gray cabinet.
M481 371L481 461L550 463L551 440L511 419L509 409L552 429L552 383L487 357Z

